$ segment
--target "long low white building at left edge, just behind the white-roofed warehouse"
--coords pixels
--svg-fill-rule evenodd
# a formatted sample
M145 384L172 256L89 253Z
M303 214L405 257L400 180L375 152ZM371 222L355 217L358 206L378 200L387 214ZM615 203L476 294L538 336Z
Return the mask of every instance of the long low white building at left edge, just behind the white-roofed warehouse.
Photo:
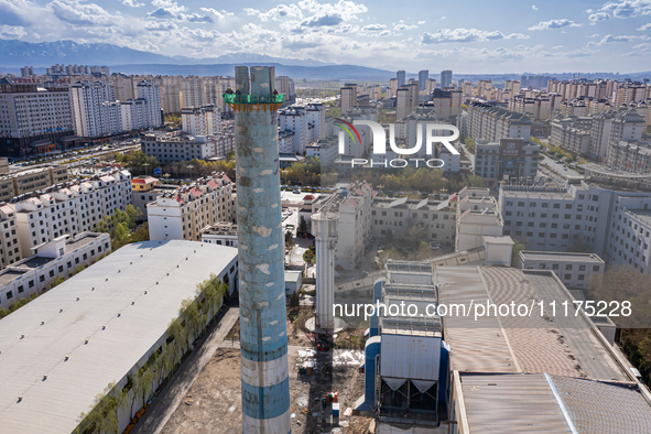
M56 279L67 279L111 251L108 234L63 235L34 247L30 257L0 271L0 308L9 310L21 299L42 294Z

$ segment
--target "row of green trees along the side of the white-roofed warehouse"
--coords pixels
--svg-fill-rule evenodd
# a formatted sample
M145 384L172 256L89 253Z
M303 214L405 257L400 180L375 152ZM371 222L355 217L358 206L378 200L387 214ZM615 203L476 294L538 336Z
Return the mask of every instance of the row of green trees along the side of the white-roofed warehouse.
M167 326L166 343L151 354L148 361L127 376L127 383L119 388L109 383L102 393L95 397L91 410L79 415L77 434L119 433L118 414L143 405L147 398L166 376L173 376L193 339L203 334L228 296L228 284L215 274L197 284L196 296L186 299L178 308L178 317Z

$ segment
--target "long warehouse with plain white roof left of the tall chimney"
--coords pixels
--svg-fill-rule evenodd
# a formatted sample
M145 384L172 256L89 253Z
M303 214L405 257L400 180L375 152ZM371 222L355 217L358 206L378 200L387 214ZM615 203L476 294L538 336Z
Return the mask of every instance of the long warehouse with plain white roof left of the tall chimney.
M197 283L214 273L236 290L237 259L237 249L225 246L135 242L3 318L0 431L73 432L109 383L121 390L162 348ZM120 433L129 411L119 410Z

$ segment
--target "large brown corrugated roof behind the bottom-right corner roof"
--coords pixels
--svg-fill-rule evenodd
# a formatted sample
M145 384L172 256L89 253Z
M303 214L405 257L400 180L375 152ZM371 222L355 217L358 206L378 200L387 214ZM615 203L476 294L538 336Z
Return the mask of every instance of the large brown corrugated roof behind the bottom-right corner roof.
M600 336L594 323L560 306L572 296L551 271L456 267L436 269L440 302L463 304L467 315L443 318L452 369L470 372L549 372L600 380L633 380L626 362ZM475 319L475 306L527 305L531 315L491 315ZM540 314L540 304L545 306Z

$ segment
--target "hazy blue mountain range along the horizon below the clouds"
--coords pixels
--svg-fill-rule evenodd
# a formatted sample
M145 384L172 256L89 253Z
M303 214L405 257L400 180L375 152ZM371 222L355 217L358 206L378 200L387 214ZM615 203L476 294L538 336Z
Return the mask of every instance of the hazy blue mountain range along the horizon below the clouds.
M54 64L110 66L111 72L124 74L152 75L234 75L236 65L274 65L276 75L289 75L294 79L332 79L332 80L381 80L395 77L395 70L370 68L357 65L335 65L314 59L273 57L264 54L232 53L218 57L195 58L186 56L166 56L123 46L91 43L79 44L73 41L31 43L19 40L0 40L0 74L20 73L22 66L34 66L37 74ZM398 67L397 67L398 68ZM529 75L529 74L527 74ZM560 79L572 78L573 74L545 73ZM408 78L416 77L406 74ZM432 72L432 77L436 73ZM588 77L588 74L582 74ZM651 73L589 75L600 78L651 77ZM519 79L520 74L455 74L454 79L491 78L496 82Z

